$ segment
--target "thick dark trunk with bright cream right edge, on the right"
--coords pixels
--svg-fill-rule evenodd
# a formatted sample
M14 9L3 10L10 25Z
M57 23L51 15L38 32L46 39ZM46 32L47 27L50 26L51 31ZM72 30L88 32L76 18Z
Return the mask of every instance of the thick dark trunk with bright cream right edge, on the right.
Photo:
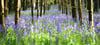
M93 27L93 0L87 0L88 2L88 14L89 14L89 24Z

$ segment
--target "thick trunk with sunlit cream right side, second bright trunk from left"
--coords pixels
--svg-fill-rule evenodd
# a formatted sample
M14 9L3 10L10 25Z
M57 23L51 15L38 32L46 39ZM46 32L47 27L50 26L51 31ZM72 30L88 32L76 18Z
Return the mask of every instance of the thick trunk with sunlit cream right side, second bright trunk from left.
M15 25L19 24L20 1L21 0L14 0L14 3L15 3Z

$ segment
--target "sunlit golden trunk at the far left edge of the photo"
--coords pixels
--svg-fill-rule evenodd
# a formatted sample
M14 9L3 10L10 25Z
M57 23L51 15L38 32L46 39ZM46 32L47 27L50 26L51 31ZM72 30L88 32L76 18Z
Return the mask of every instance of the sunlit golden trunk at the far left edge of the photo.
M0 25L2 25L3 29L5 29L4 20L4 0L0 0Z

